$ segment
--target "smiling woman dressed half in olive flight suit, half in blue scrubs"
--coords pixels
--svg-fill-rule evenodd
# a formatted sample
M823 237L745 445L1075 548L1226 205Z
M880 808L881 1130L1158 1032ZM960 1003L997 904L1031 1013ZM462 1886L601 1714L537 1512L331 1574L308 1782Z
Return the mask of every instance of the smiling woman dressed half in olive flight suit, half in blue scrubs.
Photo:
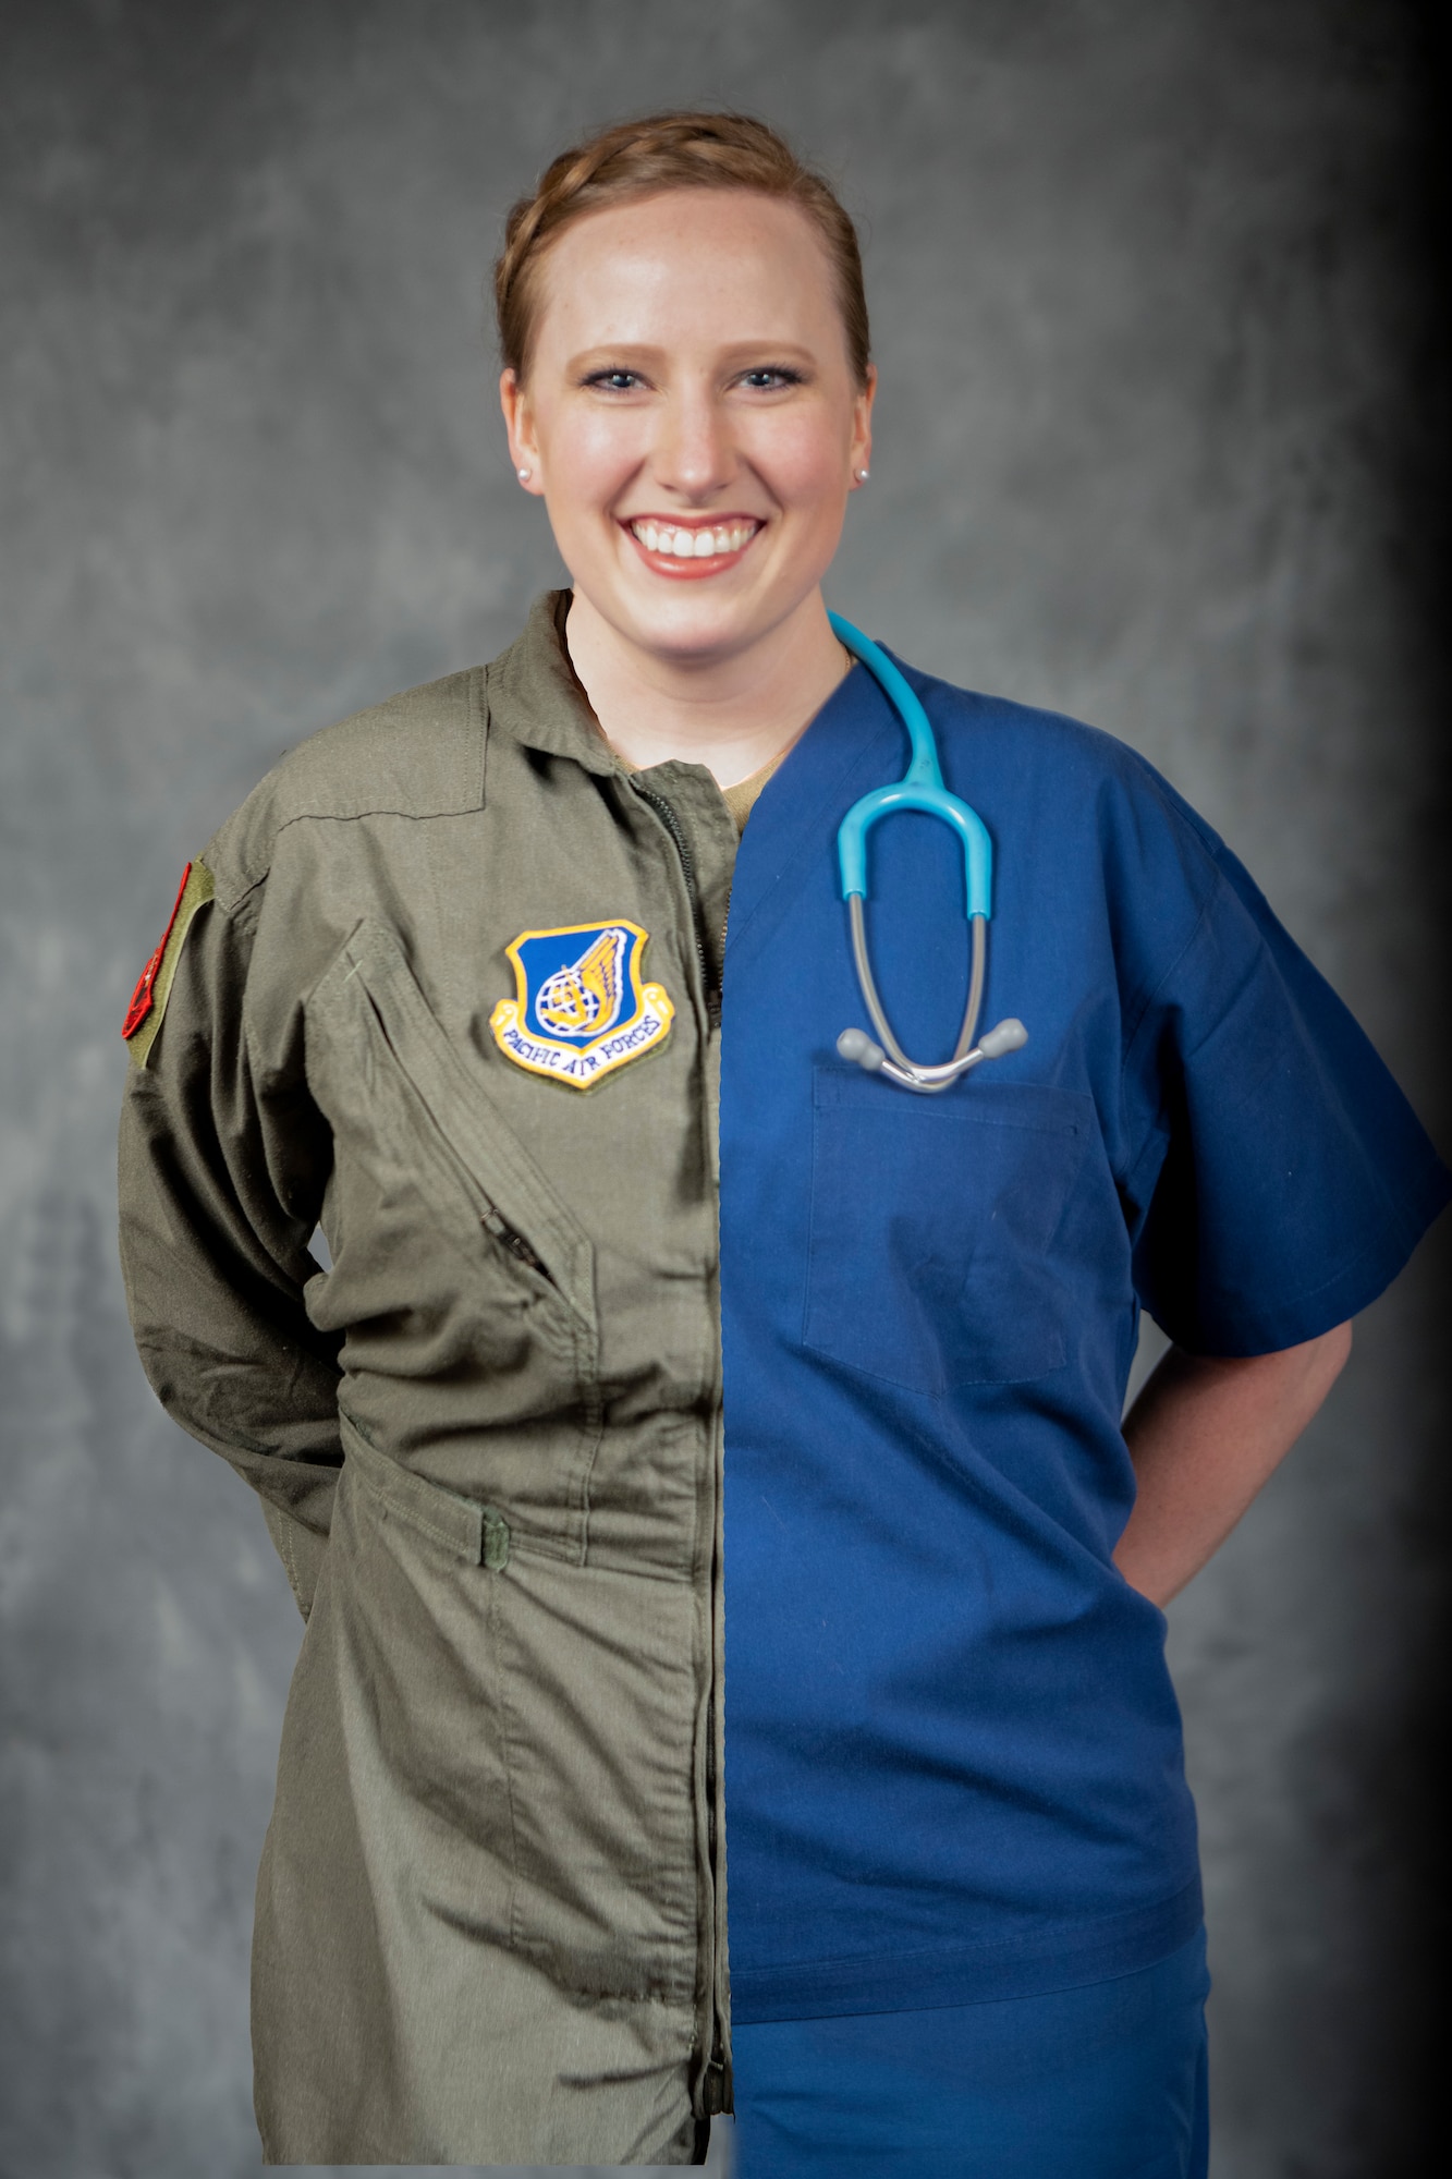
M850 222L757 122L634 122L515 209L497 301L573 588L294 750L129 1018L137 1344L307 1617L266 2155L700 2162L735 2013L748 2179L1203 2172L1158 1606L1448 1177L1147 765L916 673L1029 1042L933 1096L844 1061L837 828L905 765L820 588ZM961 885L874 830L909 1050Z

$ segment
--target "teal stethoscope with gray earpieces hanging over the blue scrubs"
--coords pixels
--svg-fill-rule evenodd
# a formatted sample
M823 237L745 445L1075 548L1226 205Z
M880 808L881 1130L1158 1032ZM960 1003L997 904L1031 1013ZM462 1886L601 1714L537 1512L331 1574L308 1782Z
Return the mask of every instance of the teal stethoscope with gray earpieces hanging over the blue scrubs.
M872 1015L872 1026L881 1037L881 1044L874 1044L863 1028L844 1028L837 1037L837 1050L844 1059L855 1059L859 1068L868 1070L868 1074L885 1074L887 1081L898 1083L903 1090L916 1090L920 1096L937 1096L942 1090L948 1090L959 1074L968 1074L970 1068L977 1068L983 1059L1001 1059L1005 1052L1016 1052L1029 1042L1029 1031L1012 1015L1009 1020L999 1022L996 1028L990 1028L985 1037L979 1037L977 1044L972 1042L979 1026L979 1011L983 1007L983 976L988 972L988 917L992 913L994 891L994 850L988 837L988 826L979 813L970 811L966 802L959 802L957 795L951 795L942 784L937 741L933 739L929 715L894 667L892 658L887 658L887 654L881 652L870 636L863 636L859 628L844 621L839 612L828 612L826 619L833 623L837 641L846 645L852 658L861 658L868 673L872 673L876 684L883 689L913 745L911 763L898 784L874 787L872 793L852 804L837 828L842 898L848 904L848 922L852 926L852 961L857 963L857 981L861 985L868 1013ZM868 957L868 832L879 817L890 817L894 811L924 811L929 817L940 817L957 832L964 845L966 915L972 933L968 1007L964 1009L964 1026L957 1033L953 1057L944 1059L937 1068L916 1066L894 1037L883 1002L876 996L876 981Z

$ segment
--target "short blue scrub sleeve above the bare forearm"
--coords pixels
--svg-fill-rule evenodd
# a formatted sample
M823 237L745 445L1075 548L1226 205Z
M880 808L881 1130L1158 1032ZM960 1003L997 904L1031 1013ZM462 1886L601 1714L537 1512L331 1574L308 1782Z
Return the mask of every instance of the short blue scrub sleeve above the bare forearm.
M1127 1052L1134 1281L1179 1347L1271 1353L1376 1301L1452 1179L1245 867L1195 832L1214 878Z

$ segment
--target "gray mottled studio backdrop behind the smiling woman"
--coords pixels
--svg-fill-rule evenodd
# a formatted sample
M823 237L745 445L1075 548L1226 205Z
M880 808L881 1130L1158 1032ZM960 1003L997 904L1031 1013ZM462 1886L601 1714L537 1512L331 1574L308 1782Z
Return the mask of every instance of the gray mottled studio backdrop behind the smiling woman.
M493 656L554 573L480 331L506 203L569 131L687 98L828 161L883 368L835 601L1160 763L1445 1146L1430 54L1397 0L9 0L2 28L0 2168L240 2179L299 1621L131 1355L118 1026L273 758ZM1217 2179L1437 2162L1435 1262L1173 1615Z

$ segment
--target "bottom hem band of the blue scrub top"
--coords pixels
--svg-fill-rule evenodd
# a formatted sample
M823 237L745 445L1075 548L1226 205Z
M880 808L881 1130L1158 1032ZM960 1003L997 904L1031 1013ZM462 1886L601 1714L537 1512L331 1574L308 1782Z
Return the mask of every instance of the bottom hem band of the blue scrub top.
M826 2020L839 2013L900 2013L1136 1974L1169 1959L1203 1920L1199 1874L1171 1898L1127 1913L1036 1922L990 1944L913 1946L900 1952L794 1959L770 1968L733 1961L733 2020Z

